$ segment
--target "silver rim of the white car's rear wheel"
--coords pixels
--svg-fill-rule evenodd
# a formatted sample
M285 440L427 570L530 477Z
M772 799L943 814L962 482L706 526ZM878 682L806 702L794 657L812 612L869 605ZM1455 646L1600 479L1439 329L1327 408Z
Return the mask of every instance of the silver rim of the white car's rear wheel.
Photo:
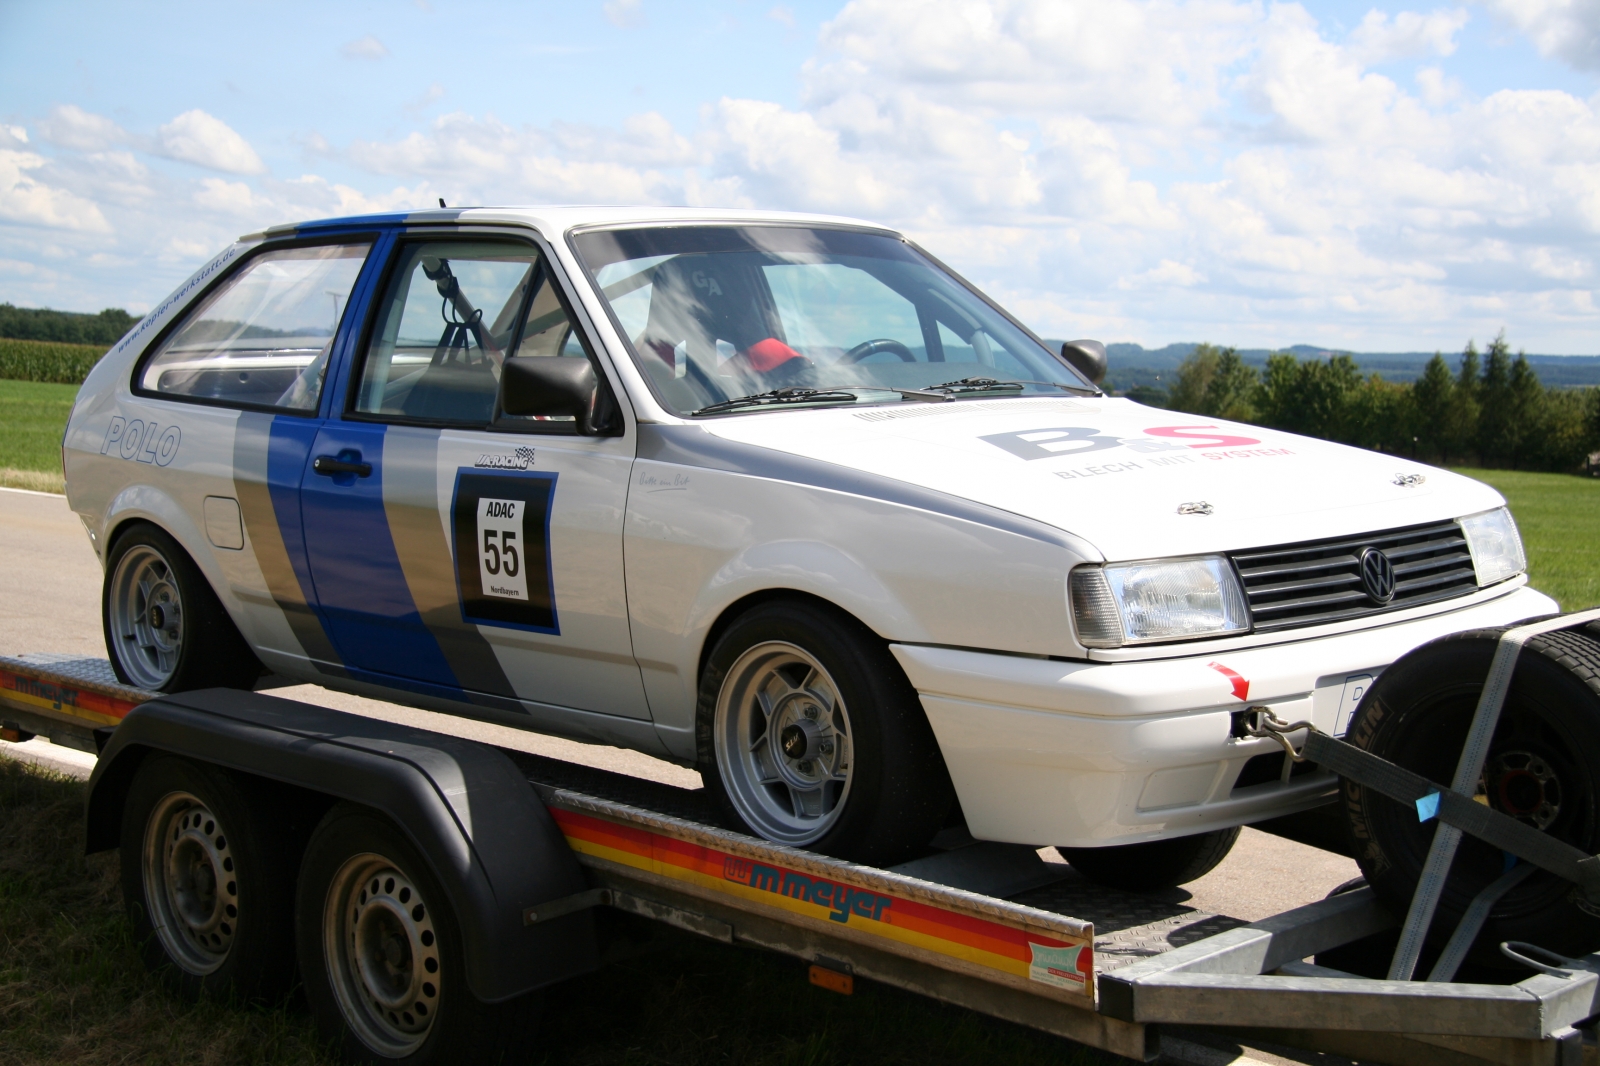
M130 547L110 579L112 650L128 680L158 690L178 671L184 605L173 567L149 544Z

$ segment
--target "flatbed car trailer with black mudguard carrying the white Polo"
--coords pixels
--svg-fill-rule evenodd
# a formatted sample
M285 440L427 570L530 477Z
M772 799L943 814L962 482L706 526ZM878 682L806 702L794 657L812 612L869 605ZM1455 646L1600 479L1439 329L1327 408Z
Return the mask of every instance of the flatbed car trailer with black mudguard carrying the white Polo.
M622 912L795 956L834 991L882 981L1136 1061L1158 1058L1163 1031L1179 1026L1379 1063L1571 1066L1595 1061L1586 1026L1600 1015L1600 954L1510 943L1502 952L1533 976L1451 978L1494 901L1530 871L1600 906L1600 856L1472 800L1523 645L1595 619L1600 610L1499 635L1450 789L1270 709L1238 715L1251 735L1280 739L1285 773L1290 759L1310 760L1437 820L1403 922L1355 887L1246 924L970 839L891 869L858 866L733 832L701 791L261 693L141 691L104 659L0 658L0 722L99 752L91 852L118 845L139 767L162 752L314 797L312 820L339 800L379 812L442 885L483 1002L597 968L602 916ZM1429 978L1413 980L1462 834L1520 861L1507 858ZM1307 962L1397 927L1387 980Z

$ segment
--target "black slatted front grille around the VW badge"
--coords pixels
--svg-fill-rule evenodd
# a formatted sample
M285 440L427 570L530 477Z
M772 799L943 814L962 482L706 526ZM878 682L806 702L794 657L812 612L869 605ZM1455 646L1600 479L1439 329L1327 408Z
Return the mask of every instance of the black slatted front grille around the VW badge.
M1395 568L1395 594L1376 603L1362 586L1362 551L1376 547ZM1413 525L1331 541L1232 552L1256 632L1317 626L1448 600L1478 587L1467 539L1454 522Z

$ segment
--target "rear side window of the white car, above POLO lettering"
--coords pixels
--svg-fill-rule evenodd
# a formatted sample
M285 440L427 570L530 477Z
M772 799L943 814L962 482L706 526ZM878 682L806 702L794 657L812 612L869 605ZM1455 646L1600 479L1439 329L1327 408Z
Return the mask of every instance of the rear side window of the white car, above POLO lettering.
M158 395L314 411L370 243L264 251L189 312L139 371Z

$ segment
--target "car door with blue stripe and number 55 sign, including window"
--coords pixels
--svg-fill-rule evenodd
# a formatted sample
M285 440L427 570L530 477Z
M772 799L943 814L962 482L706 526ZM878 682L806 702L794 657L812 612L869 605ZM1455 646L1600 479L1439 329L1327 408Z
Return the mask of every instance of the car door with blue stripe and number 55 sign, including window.
M349 410L302 488L318 607L357 677L520 714L650 717L622 589L632 437L496 418L506 360L587 359L573 338L538 246L398 245Z

